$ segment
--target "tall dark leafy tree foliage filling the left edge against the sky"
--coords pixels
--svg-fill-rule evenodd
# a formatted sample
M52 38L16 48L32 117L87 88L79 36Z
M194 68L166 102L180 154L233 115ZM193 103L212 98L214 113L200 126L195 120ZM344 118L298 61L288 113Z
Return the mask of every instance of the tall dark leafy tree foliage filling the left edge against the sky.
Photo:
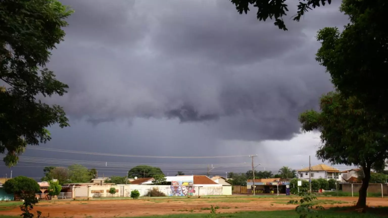
M68 126L62 107L42 103L36 96L63 95L68 85L45 68L50 50L60 43L71 15L58 0L0 1L0 152L14 166L27 145L51 139L47 126Z

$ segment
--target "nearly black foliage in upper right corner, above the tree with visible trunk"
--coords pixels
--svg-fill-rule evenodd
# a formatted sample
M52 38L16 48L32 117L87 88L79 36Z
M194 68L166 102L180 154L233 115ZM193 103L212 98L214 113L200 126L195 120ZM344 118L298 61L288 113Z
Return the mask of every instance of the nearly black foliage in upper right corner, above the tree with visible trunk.
M381 122L379 128L388 130L388 90L385 73L388 67L385 49L388 30L384 17L388 5L384 0L343 0L341 12L350 23L340 32L324 28L317 39L322 46L317 61L330 73L334 86L346 98L355 97L365 104L366 111ZM384 48L382 48L384 47Z

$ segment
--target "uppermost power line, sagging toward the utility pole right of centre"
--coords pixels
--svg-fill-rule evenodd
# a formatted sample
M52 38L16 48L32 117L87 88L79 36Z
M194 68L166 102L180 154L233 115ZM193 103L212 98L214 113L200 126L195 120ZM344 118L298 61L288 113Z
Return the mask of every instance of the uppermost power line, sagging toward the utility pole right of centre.
M90 155L102 155L102 156L115 156L115 157L144 157L144 158L178 158L178 159L201 159L201 158L230 158L230 157L246 157L248 155L234 155L234 156L148 156L148 155L132 155L132 154L109 154L99 152L88 151L74 151L64 149L42 148L42 147L29 147L30 150L40 151L52 151L52 152L65 152L73 154L90 154Z

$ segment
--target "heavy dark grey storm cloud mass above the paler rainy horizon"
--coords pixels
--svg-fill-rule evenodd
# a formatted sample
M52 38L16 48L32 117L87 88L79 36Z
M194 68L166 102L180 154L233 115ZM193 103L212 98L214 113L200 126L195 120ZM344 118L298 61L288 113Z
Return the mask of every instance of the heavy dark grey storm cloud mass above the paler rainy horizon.
M70 88L50 101L70 118L214 120L205 123L215 137L241 140L299 132L298 114L332 89L314 35L346 21L338 5L286 18L285 32L229 1L63 3L76 13L50 68Z

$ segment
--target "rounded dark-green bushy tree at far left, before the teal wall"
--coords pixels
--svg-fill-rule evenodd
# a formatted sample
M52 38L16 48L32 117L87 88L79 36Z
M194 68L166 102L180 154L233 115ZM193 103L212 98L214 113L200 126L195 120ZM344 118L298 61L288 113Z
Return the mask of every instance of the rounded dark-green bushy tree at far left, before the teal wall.
M17 195L33 195L39 192L40 187L38 183L26 176L16 176L15 178L5 181L3 184L5 192L8 194Z

